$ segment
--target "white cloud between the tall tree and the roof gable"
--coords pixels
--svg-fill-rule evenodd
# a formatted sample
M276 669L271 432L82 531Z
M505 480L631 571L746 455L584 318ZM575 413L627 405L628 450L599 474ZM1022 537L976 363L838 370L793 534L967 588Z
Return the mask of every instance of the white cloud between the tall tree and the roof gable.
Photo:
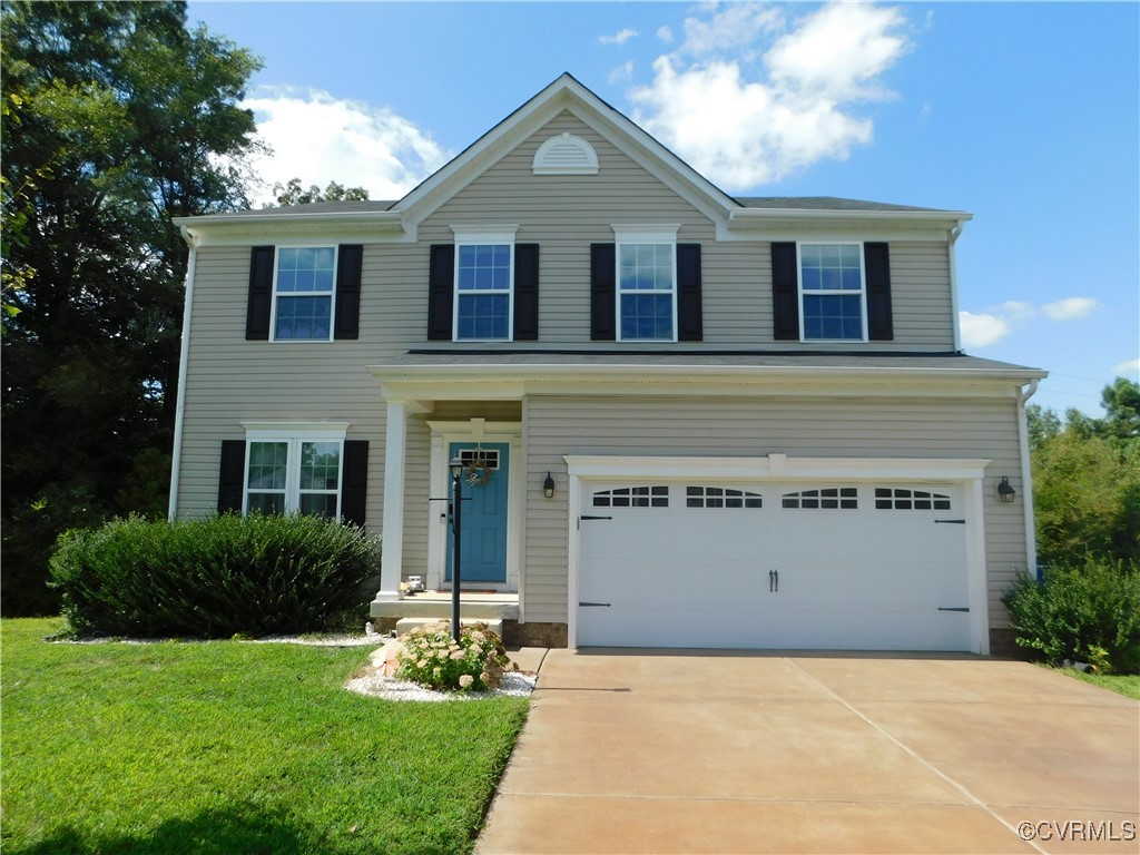
M274 184L300 178L325 187L365 187L374 199L396 199L448 160L440 146L386 108L309 89L270 88L247 98L260 137L272 154L254 163L266 182L258 204L271 202Z

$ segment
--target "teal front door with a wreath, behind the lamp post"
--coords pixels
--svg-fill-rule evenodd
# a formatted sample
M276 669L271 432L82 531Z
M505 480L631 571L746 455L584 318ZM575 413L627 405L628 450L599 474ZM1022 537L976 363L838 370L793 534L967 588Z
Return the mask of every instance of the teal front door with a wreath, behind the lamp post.
M506 581L506 503L510 446L506 442L453 442L448 459L480 458L487 466L486 483L463 482L463 537L459 583ZM483 479L479 479L480 481ZM450 486L449 486L449 489ZM454 498L454 497L453 497ZM447 580L451 580L455 532L447 527Z

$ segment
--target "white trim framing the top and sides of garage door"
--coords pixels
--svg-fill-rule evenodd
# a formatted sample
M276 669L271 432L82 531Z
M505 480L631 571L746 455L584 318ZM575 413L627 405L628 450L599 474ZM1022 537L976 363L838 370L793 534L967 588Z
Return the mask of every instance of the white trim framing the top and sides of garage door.
M622 479L706 480L718 483L755 481L895 481L948 482L962 487L966 519L967 591L970 606L970 646L990 652L990 609L986 585L985 510L983 477L988 459L983 458L890 458L890 457L632 457L565 455L569 475L569 568L567 641L578 646L578 588L580 569L580 523L583 482Z

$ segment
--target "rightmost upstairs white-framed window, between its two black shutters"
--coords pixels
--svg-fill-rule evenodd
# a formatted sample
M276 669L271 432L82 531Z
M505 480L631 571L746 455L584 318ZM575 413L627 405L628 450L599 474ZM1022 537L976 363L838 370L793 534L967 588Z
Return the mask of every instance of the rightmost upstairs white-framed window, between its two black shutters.
M864 341L860 244L800 244L799 284L805 341Z

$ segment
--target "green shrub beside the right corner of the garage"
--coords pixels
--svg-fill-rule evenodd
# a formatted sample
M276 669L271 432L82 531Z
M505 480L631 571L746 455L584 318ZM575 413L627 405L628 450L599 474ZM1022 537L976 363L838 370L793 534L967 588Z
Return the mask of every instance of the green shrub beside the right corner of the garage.
M1037 581L1017 576L1002 596L1017 643L1052 665L1090 662L1102 671L1140 673L1140 572L1109 560L1051 567Z

